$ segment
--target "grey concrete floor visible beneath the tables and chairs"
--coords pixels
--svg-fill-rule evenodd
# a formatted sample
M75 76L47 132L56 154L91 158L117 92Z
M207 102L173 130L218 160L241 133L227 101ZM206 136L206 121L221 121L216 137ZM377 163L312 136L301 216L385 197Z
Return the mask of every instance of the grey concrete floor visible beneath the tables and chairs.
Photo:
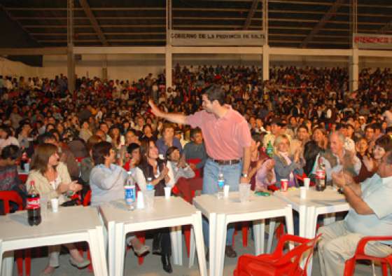
M152 244L152 240L146 240L146 244ZM183 243L184 244L184 243ZM236 235L235 237L235 249L237 251L238 256L241 254L254 254L253 241L251 238L248 239L248 247L242 247L242 237L241 233ZM73 268L69 264L69 255L62 254L60 256L60 266L55 270L54 276L78 276L78 275L93 275L92 272L89 272L87 269L78 270L77 268ZM42 258L33 258L31 260L31 276L38 276L45 268L45 265L48 262L47 257ZM223 275L232 275L235 266L237 265L237 258L225 258L225 268L223 271ZM321 275L319 265L318 265L318 256L317 253L314 254L314 266L313 266L312 275L318 276ZM356 275L372 275L372 268L368 265L357 264L356 266ZM186 248L184 245L183 248L183 265L174 265L173 266L173 274L176 276L196 276L200 275L197 265L197 258L195 258L195 265L192 268L188 268L188 256L186 255ZM381 275L381 270L379 267L376 267L377 275ZM16 265L14 265L13 275L17 276L18 272L16 269ZM137 257L134 255L132 249L127 251L125 257L125 273L124 275L143 275L143 276L155 276L155 275L168 275L164 270L162 270L162 265L160 263L160 256L148 254L144 258L144 264L139 265L137 263Z

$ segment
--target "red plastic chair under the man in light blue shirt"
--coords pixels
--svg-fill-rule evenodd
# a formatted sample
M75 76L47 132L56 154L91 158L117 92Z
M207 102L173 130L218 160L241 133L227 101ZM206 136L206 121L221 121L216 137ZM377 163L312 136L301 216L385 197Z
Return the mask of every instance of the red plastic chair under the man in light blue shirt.
M365 254L365 246L367 242L370 241L380 241L380 240L392 240L392 236L379 236L379 237L363 237L358 242L358 246L356 247L356 253L352 258L346 261L346 265L344 266L344 276L351 276L354 275L355 272L355 265L357 260L370 260L370 261L377 261L381 263L382 268L382 275L388 276L388 265L389 270L391 271L392 275L392 254L386 256L384 258L370 256Z

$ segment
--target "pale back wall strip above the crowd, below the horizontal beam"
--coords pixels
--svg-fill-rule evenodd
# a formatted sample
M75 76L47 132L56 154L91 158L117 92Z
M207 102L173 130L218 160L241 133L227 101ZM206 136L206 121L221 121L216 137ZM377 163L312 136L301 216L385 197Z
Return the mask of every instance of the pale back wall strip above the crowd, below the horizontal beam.
M102 77L102 68L106 60L109 79L137 80L153 73L160 74L165 69L165 55L83 55L76 61L78 76ZM262 65L261 55L174 55L173 66L183 65ZM271 55L271 66L297 67L348 67L348 57ZM360 69L365 67L392 67L392 58L360 57ZM43 56L43 67L30 67L21 62L13 62L0 57L0 74L11 76L40 76L54 78L58 74L66 75L66 55Z

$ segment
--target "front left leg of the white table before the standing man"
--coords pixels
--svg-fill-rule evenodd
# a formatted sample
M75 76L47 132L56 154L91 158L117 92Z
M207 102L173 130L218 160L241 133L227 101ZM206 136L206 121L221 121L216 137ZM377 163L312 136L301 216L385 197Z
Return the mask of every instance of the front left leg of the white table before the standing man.
M226 236L228 235L228 223L226 215L218 214L216 220L216 276L223 275L223 265L225 264Z

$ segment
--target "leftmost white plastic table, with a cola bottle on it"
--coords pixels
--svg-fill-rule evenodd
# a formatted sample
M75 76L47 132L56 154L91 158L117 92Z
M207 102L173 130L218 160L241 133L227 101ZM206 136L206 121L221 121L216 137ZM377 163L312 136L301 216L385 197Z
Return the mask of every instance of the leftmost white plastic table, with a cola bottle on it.
M96 208L59 207L59 212L48 210L38 226L29 226L27 212L0 216L0 256L4 258L3 276L12 275L13 250L45 247L71 242L88 242L94 275L108 275L104 249L104 229Z

